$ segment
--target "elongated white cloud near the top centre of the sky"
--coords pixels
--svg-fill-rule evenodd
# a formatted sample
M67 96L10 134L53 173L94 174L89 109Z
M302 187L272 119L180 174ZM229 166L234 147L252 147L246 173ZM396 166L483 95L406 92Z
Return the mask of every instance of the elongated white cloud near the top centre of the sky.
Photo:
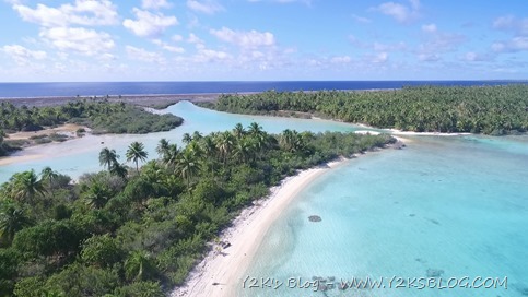
M242 48L269 47L275 44L273 34L269 32L235 32L222 27L221 29L211 29L210 33L222 41L234 44Z

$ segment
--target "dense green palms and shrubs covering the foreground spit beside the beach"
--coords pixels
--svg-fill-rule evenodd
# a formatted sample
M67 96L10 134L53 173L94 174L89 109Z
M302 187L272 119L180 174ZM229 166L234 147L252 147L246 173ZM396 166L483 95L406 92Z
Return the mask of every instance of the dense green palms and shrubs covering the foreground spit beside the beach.
M392 143L389 135L247 129L166 140L146 161L132 143L119 162L77 183L44 169L0 187L0 296L164 296L219 231L297 169ZM139 167L139 164L143 164Z

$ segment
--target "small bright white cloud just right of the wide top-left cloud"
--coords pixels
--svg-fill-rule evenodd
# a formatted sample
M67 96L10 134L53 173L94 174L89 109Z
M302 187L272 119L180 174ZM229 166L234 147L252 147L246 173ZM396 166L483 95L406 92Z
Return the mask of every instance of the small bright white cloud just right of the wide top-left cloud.
M150 13L134 8L137 21L127 19L122 25L140 37L156 37L171 26L177 25L176 16L165 16L162 13Z

